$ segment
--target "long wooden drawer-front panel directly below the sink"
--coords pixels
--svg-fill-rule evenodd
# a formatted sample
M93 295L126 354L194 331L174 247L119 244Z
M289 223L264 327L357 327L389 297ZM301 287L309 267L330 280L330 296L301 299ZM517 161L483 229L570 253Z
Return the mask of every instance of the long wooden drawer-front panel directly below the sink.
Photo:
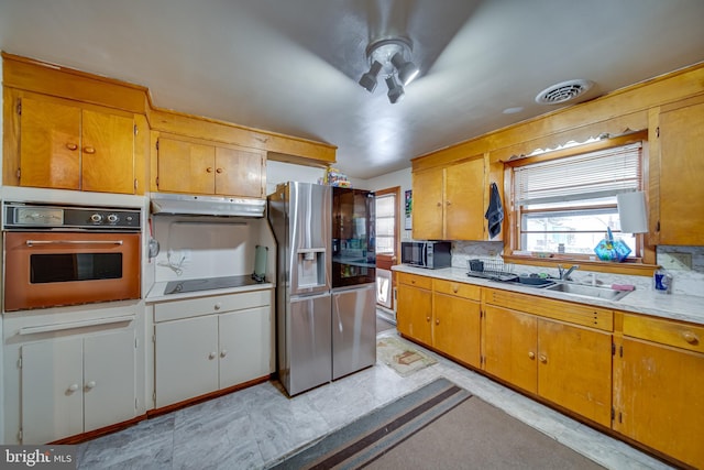
M606 308L488 288L484 289L483 297L486 304L498 307L597 328L604 331L614 330L614 311Z

